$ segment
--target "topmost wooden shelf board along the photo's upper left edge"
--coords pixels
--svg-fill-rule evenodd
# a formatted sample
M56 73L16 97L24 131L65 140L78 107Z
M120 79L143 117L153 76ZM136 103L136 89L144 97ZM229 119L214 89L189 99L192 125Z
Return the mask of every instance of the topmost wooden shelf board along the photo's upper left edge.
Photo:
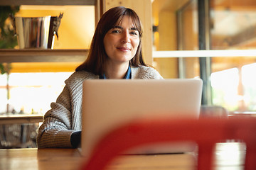
M1 0L1 6L20 5L83 5L95 6L96 0Z

